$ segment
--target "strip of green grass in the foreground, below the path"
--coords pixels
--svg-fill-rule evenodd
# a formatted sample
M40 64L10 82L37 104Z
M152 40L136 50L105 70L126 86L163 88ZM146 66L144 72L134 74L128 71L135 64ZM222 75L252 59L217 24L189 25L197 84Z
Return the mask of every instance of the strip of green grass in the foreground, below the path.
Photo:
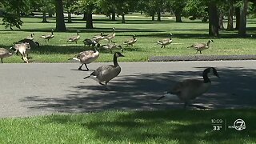
M213 118L223 120L218 131L213 130ZM228 128L237 118L246 122L245 130ZM254 109L105 111L0 119L0 143L12 144L255 143L255 135Z

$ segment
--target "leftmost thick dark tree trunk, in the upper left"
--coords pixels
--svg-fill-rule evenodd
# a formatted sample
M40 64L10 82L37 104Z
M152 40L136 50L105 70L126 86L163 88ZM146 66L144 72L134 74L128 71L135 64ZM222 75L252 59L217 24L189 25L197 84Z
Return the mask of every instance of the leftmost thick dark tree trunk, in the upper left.
M66 31L65 19L63 14L63 2L62 0L54 0L56 8L56 30Z

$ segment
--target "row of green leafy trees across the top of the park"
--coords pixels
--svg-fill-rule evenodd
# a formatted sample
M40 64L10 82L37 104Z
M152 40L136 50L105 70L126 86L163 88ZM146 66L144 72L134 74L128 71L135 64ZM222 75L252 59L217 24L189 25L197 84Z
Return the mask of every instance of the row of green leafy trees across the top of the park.
M63 9L64 8L64 9ZM133 12L145 13L154 20L155 14L161 21L161 14L170 12L176 17L176 22L182 22L182 18L191 20L199 18L202 22L209 22L209 34L218 36L218 30L224 28L223 18L228 18L228 30L233 30L233 17L236 17L236 28L240 35L246 34L246 15L256 15L256 1L254 0L5 0L0 2L0 15L6 28L21 28L21 17L30 14L31 11L42 12L43 21L46 21L46 13L56 14L56 30L65 31L64 12L71 14L84 14L87 29L93 29L92 14L106 14L111 20L116 15L125 15Z

